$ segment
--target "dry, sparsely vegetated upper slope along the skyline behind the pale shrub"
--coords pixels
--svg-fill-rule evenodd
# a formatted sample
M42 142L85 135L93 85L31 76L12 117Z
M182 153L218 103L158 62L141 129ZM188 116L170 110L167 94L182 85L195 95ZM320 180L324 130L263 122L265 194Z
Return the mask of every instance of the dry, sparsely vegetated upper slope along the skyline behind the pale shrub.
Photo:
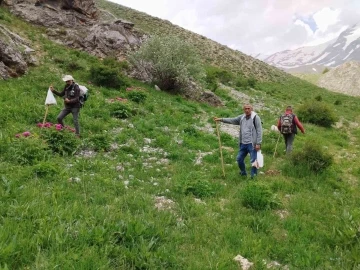
M97 0L97 5L115 17L131 21L135 29L150 35L175 35L183 40L188 40L197 49L205 62L231 70L246 77L255 77L261 81L284 81L289 76L264 62L250 57L240 51L234 51L204 36L176 26L169 21L164 21L146 13L117 5L106 0ZM106 15L106 16L105 16ZM105 13L106 19L113 19Z

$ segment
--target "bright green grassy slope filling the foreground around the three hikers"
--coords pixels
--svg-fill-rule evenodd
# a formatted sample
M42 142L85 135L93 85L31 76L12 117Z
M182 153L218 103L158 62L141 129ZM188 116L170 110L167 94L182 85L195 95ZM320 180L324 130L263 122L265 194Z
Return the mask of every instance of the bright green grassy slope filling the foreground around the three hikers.
M119 17L124 12L99 3ZM126 11L124 19L139 32L153 29L153 21L168 31L174 27L155 18L141 23L141 16L148 17ZM222 107L125 75L116 78L120 86L105 87L94 82L92 71L108 65L125 74L126 65L53 40L53 28L4 6L0 25L21 37L36 58L24 73L10 65L9 77L0 80L1 269L235 270L248 269L245 262L251 269L359 268L359 98L281 72L277 77L275 68L261 62L254 87L238 86L236 78L218 82L214 91ZM197 37L194 46L201 46ZM204 46L211 43L203 40ZM27 55L22 46L14 55ZM228 50L236 55L229 59L241 56ZM210 56L209 63L221 59ZM14 63L1 54L0 66L5 62ZM51 126L63 107L60 98L45 114L49 85L61 89L64 74L90 89L80 138L71 132L71 115L68 128ZM286 79L260 80L281 76ZM296 112L313 100L339 119L328 128L304 122L306 134L296 136L294 157L312 143L333 157L329 168L316 173L285 156L282 138L270 130L285 106ZM264 128L265 166L256 180L238 174L238 127L220 124L223 176L213 121L241 114L244 102L254 105ZM48 128L39 127L44 120ZM309 156L321 161L316 153Z

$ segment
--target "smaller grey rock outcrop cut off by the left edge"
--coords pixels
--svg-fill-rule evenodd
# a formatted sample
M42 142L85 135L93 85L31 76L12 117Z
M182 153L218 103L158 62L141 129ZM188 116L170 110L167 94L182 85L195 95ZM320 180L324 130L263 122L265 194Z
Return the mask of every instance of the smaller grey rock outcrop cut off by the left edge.
M8 79L25 74L28 65L35 64L34 52L19 35L0 25L0 78Z

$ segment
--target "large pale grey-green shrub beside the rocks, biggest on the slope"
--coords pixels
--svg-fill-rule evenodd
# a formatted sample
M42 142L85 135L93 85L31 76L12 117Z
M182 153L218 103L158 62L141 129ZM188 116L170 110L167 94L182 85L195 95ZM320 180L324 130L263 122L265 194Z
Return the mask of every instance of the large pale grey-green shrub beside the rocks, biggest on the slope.
M193 46L173 36L150 38L129 55L129 60L143 79L169 92L185 90L192 79L202 77L201 61Z

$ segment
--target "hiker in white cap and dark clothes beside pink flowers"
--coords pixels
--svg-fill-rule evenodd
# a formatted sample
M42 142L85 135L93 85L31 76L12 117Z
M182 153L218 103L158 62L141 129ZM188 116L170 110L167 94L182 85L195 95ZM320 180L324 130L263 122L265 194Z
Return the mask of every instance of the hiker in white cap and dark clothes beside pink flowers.
M74 82L74 78L71 75L65 75L62 80L66 83L64 90L61 92L56 91L52 85L50 85L50 90L57 96L64 98L64 109L59 113L57 117L58 123L64 127L63 119L69 114L72 113L75 126L76 136L80 136L80 127L79 127L79 113L80 113L80 88L79 85Z

